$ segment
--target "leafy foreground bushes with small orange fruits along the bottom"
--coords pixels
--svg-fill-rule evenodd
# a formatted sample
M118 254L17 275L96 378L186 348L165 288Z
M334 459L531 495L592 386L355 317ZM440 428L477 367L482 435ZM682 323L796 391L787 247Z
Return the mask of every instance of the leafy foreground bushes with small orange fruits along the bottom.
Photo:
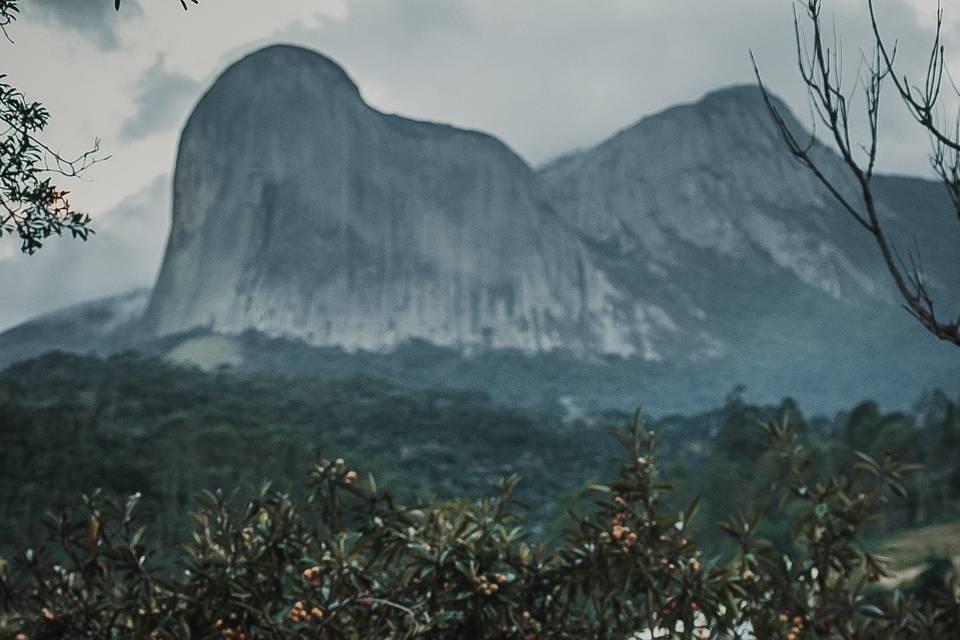
M860 455L814 482L793 427L765 429L789 554L749 511L720 525L738 552L705 557L696 501L667 512L656 434L636 418L618 477L591 487L594 513L549 547L523 529L516 477L476 503L401 506L319 458L302 501L269 484L249 500L202 493L175 568L145 545L137 496L94 493L0 560L0 638L956 637L952 568L937 589L883 590L889 572L860 543L910 467Z

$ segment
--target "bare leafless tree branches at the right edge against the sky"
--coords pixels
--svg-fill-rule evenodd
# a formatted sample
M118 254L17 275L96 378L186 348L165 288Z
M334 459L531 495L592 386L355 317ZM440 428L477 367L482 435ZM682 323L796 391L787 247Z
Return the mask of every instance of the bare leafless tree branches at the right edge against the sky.
M869 54L864 54L854 86L854 89L858 84L862 86L869 130L868 141L860 145L851 135L851 98L843 86L839 38L835 34L832 43L825 40L822 0L803 0L802 4L812 34L805 36L795 12L794 32L800 75L816 113L814 124L819 120L826 126L828 137L848 170L847 177L853 179L856 195L848 195L845 185L830 177L822 160L814 155L816 132L809 139L801 140L798 133L790 129L781 108L767 92L751 53L757 82L770 115L790 153L823 183L840 206L873 237L906 310L937 338L960 347L960 319L943 320L937 315L923 262L918 255L919 249L910 252L907 261L901 259L878 214L872 186L878 153L880 96L884 83L889 79L918 125L933 141L931 163L950 193L960 222L960 120L954 121L948 128L938 116L945 73L944 50L940 40L943 12L941 10L938 14L937 34L921 88L908 77L898 76L895 69L896 46L891 48L884 43L873 0L869 1L874 46Z

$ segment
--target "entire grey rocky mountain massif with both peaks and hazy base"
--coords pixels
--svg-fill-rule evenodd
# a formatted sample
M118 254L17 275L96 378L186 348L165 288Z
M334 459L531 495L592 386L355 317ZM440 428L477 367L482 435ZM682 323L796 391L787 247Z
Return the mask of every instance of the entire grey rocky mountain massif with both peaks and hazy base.
M901 253L921 248L949 302L960 226L942 186L875 187ZM172 207L156 286L114 348L568 409L702 408L739 382L817 411L957 390L955 348L900 308L871 239L789 157L754 87L532 168L489 135L378 112L320 54L269 47L196 106ZM108 351L94 307L0 335L0 362L45 341Z

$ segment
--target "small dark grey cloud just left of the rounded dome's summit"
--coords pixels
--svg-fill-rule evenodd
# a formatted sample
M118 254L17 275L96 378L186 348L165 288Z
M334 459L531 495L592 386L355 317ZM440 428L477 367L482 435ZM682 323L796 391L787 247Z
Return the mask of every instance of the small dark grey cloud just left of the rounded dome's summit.
M120 140L133 142L167 131L183 119L200 90L200 83L166 68L164 55L136 83L135 112L120 127Z

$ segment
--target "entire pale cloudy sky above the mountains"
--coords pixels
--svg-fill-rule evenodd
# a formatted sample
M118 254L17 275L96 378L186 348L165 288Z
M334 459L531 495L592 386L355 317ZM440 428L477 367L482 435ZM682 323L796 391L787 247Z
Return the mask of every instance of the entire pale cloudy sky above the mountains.
M905 69L923 70L936 0L877 0ZM338 61L384 112L492 133L533 165L711 90L753 81L808 108L792 0L26 0L0 73L53 115L64 155L101 140L104 162L62 186L100 233L19 255L0 239L0 330L91 297L149 286L170 216L170 174L192 105L227 65L272 43ZM866 0L824 0L855 69ZM960 7L946 15L950 34ZM885 105L881 169L926 174L929 146ZM122 245L122 246L121 246ZM96 247L96 249L94 248ZM84 250L89 249L89 250Z

